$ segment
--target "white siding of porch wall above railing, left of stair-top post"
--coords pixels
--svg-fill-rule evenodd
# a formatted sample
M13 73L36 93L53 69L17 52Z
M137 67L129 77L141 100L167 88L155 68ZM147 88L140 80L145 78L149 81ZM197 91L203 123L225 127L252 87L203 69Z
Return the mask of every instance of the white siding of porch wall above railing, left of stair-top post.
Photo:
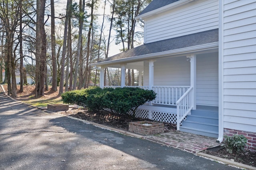
M144 86L148 86L148 62L145 62ZM190 62L187 58L157 59L154 62L154 86L190 86Z

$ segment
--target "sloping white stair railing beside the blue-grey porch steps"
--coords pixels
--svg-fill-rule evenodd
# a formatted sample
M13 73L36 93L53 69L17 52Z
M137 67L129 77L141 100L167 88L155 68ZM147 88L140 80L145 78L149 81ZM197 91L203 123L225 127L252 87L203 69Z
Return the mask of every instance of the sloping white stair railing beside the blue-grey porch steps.
M177 105L177 130L180 130L180 122L190 113L193 109L192 106L192 90L193 87L190 87L182 97L176 102Z

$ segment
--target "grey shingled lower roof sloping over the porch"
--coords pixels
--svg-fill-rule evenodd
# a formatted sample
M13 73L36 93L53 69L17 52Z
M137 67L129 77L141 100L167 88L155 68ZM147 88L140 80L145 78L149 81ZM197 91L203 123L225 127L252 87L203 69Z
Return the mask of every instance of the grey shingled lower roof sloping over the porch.
M138 57L142 55L148 55L152 53L159 53L164 51L170 51L175 49L182 49L186 47L193 47L197 45L204 45L209 43L218 42L218 29L212 29L208 31L203 31L199 33L184 35L181 37L175 37L171 39L165 39L162 41L156 41L153 43L147 43L135 47L133 49L129 49L128 51L124 51L112 57L108 57L106 59L102 59L97 63L91 64L100 65L100 63L115 61L119 59L125 59L130 57Z

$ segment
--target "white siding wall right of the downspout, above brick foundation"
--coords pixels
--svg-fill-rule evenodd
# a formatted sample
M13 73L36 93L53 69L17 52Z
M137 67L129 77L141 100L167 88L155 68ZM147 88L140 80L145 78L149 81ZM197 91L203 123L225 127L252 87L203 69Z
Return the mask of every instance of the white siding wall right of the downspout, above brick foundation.
M222 110L225 129L256 132L256 2L223 1Z

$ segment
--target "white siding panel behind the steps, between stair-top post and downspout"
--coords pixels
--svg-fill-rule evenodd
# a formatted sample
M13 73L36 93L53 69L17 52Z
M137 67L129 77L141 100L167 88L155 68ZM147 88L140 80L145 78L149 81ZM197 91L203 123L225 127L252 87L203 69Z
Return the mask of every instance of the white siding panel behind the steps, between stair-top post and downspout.
M196 56L196 104L218 106L218 53Z

